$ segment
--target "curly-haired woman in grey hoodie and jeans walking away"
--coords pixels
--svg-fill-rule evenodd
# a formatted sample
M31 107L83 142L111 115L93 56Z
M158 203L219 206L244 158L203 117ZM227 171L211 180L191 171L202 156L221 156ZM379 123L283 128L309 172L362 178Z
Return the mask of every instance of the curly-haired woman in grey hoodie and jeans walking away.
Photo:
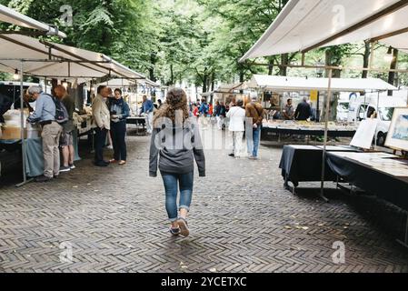
M194 119L189 119L184 90L174 88L154 116L149 168L150 176L155 177L158 164L162 174L165 208L173 236L189 235L186 219L193 196L194 159L199 175L205 176L205 157L198 125ZM180 187L178 207L177 185Z

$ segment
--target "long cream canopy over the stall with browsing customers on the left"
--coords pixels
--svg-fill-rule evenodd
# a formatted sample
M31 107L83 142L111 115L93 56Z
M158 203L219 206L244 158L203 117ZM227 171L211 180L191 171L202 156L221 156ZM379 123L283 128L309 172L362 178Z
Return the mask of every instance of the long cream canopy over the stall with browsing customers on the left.
M0 35L0 47L0 71L3 72L14 73L24 60L25 75L85 79L117 76L154 83L106 55L73 46L25 35Z

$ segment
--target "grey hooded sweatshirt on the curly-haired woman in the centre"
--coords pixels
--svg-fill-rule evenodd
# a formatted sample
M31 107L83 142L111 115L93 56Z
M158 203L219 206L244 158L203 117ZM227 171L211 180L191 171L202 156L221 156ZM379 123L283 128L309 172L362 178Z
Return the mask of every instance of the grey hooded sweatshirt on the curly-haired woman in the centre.
M167 123L162 128L154 128L150 145L150 176L157 176L157 164L164 173L194 172L194 159L199 175L205 176L205 157L198 125Z

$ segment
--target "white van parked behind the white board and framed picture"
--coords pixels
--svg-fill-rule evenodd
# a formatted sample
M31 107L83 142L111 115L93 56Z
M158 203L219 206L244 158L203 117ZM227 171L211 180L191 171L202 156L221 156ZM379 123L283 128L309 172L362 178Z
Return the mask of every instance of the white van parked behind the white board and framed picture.
M380 95L355 95L350 100L348 122L359 122L366 118L371 118L374 113L377 112L377 118L379 123L376 130L376 139L378 146L384 146L387 137L388 130L393 119L393 111L396 107L405 107L407 105L406 95L405 98L401 96L388 96L385 94Z

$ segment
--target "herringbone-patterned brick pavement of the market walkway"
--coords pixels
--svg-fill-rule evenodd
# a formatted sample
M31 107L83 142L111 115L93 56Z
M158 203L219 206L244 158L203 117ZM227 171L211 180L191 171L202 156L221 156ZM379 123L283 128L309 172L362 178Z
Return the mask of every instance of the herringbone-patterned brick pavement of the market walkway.
M129 136L127 166L95 168L83 153L74 171L51 183L0 188L0 271L408 271L406 249L376 223L377 213L366 215L381 203L335 191L330 204L313 193L292 196L278 169L280 148L262 146L259 161L207 150L207 177L194 181L191 236L171 237L161 178L148 177L148 145L148 137Z

